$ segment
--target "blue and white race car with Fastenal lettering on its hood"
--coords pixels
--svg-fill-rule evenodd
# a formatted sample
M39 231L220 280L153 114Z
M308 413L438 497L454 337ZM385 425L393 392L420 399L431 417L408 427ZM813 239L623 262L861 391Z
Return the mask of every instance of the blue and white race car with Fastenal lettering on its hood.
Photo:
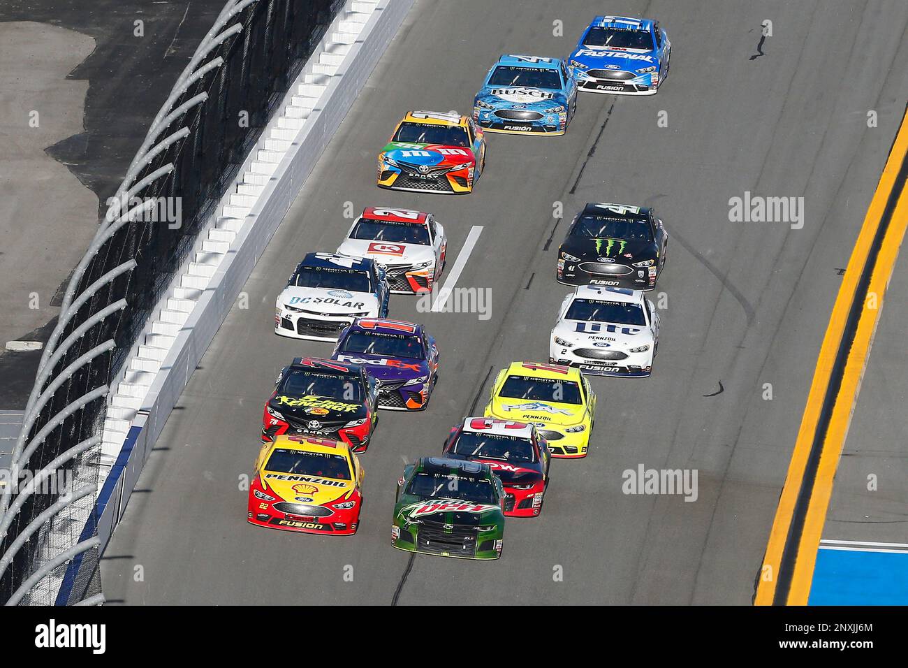
M656 21L597 16L583 31L569 66L582 91L656 95L668 75L671 48Z

